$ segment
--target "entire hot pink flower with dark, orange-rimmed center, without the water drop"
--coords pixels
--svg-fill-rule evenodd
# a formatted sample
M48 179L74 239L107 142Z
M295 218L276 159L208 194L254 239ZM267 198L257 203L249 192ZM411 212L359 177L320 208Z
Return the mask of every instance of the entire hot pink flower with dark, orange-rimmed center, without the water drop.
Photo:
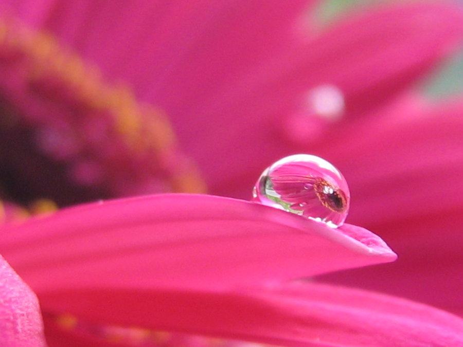
M460 187L462 108L406 92L460 41L456 5L399 3L329 27L315 25L315 1L118 5L2 3L0 174L11 200L203 191L198 167L212 193L247 198L274 160L315 153L349 182L348 221L388 235L403 257L344 282L459 312L462 200L448 192ZM0 252L38 295L50 345L210 342L152 330L284 345L463 343L461 320L429 306L281 284L395 258L352 225L159 195L2 232Z

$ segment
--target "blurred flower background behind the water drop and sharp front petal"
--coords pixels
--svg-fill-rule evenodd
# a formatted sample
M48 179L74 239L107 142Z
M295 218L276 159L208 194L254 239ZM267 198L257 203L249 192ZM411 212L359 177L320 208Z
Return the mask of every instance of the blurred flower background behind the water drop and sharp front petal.
M0 13L4 222L152 193L250 199L272 162L314 154L347 179L347 222L399 255L315 281L463 315L461 2L4 0Z

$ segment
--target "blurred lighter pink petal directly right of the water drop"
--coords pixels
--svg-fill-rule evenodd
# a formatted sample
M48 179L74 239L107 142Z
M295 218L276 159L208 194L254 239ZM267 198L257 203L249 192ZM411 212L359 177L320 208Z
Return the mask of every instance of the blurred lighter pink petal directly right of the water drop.
M351 221L380 226L461 207L460 194L449 192L463 190L462 131L458 101L391 107L357 131L352 127L343 140L334 139L323 152L355 194Z

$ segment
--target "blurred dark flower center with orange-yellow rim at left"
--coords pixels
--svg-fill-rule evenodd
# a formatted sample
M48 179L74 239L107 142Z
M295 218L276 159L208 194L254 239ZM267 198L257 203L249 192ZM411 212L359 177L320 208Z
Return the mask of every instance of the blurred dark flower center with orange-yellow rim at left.
M0 18L0 199L204 192L168 118L51 36ZM13 83L14 82L14 83Z

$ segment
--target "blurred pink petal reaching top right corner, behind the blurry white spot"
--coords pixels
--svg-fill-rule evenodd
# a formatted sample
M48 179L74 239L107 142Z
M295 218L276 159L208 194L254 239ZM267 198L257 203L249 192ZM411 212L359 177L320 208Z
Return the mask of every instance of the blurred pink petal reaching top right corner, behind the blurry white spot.
M212 97L210 105L204 100L191 114L180 116L163 106L207 175L211 191L246 196L244 187L269 163L301 149L323 150L333 139L344 138L345 126L416 82L461 41L462 13L447 2L384 6L349 17L309 40L304 48L262 63L236 84L228 83L216 92L221 94ZM310 138L305 148L297 146L291 134L283 131L291 121L290 113L300 107L297 98L325 84L343 93L344 121L328 126L331 131L316 146ZM180 124L182 119L188 119L187 124ZM300 122L298 126L307 125ZM233 156L212 159L224 153Z

